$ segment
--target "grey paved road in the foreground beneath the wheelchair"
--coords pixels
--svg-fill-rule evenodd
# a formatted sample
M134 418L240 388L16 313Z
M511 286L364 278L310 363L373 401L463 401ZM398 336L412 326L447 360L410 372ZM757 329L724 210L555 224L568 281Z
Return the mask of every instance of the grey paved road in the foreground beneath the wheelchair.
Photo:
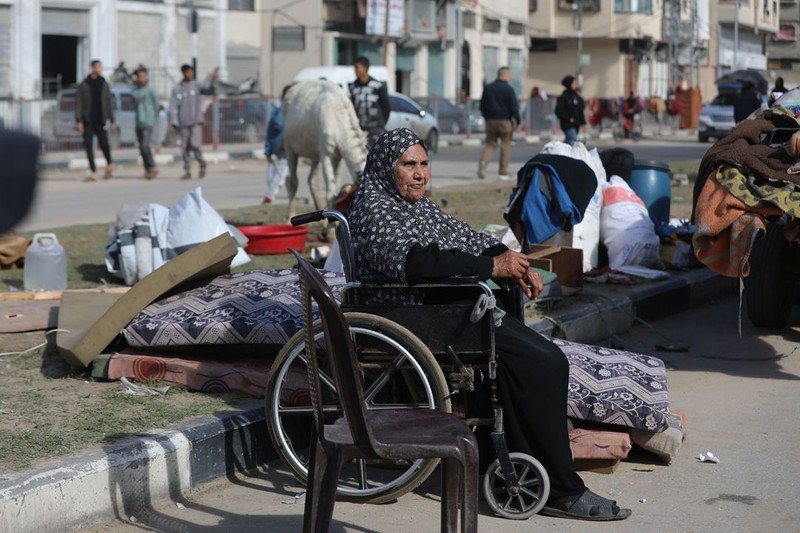
M742 324L731 296L623 335L629 349L686 344L688 352L658 352L667 362L672 406L688 417L688 438L672 465L639 453L613 474L583 473L591 488L633 508L624 522L590 524L535 516L525 523L496 518L482 504L481 532L753 533L798 531L800 441L800 315L795 327L756 330ZM712 451L719 464L696 456ZM652 471L641 467L652 466ZM640 470L637 470L639 468ZM644 469L647 470L647 469ZM181 502L156 505L136 524L119 521L87 532L299 531L299 484L281 465L235 475ZM438 531L438 476L387 505L338 502L332 531Z

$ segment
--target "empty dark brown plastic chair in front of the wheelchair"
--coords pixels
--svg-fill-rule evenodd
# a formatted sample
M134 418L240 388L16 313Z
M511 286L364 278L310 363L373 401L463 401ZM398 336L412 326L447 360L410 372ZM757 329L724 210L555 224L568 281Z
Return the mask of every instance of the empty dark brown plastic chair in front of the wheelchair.
M478 526L478 444L464 420L435 410L372 410L364 401L361 373L347 320L325 280L300 254L297 258L305 316L308 379L314 408L311 454L303 531L328 531L341 466L351 459L390 461L442 459L441 530L458 527L461 492L461 531ZM326 424L322 411L320 372L312 300L317 303L325 350L344 418ZM463 481L463 483L462 483Z

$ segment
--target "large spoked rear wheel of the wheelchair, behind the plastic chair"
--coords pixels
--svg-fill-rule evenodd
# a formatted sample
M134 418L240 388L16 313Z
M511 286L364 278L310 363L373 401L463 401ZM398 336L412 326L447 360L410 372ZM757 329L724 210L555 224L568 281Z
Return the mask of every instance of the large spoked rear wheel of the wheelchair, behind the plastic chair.
M430 350L410 331L391 320L364 313L345 313L364 375L369 409L440 409L450 412L447 382ZM321 323L315 338L323 337ZM324 411L328 423L342 416L329 366L318 344ZM278 455L302 483L308 476L311 401L308 395L304 332L292 337L270 370L266 418ZM327 375L326 375L327 374ZM437 459L352 461L342 468L338 496L357 502L384 503L415 489L431 474Z

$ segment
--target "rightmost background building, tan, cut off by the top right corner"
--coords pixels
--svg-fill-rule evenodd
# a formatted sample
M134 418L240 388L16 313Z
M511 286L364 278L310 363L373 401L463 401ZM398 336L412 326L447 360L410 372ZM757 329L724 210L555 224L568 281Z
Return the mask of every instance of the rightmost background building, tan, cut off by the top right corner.
M800 85L800 0L780 0L778 31L767 39L767 68L771 77L781 76L787 88Z

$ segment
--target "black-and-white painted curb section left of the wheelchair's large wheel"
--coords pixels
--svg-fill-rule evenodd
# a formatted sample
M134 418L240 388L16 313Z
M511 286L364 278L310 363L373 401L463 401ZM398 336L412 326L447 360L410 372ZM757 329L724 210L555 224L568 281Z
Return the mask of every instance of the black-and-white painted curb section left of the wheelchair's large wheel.
M0 531L75 530L141 517L164 498L277 458L261 401L219 417L141 434L0 482Z

